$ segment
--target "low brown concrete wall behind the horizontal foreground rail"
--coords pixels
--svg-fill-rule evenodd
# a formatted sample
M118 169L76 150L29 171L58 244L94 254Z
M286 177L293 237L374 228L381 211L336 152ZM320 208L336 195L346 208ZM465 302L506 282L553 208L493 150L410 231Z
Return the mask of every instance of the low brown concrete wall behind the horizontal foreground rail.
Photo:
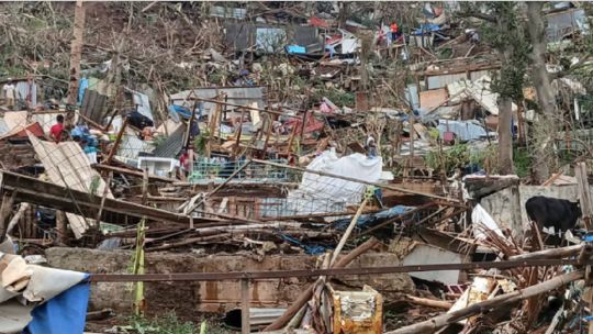
M126 250L102 252L85 248L54 247L46 250L49 266L87 272L125 274L132 263ZM261 261L246 255L161 254L146 255L146 272L206 272L243 270L296 270L313 269L317 257L306 255L269 255ZM369 253L355 260L350 267L398 265L394 254ZM413 291L407 274L374 275L340 278L347 285L370 285L376 290ZM307 286L310 279L288 278L258 280L251 285L253 307L287 307ZM111 308L126 313L132 308L130 283L92 283L90 309ZM160 314L176 309L180 316L191 318L192 312L224 312L240 302L240 290L235 281L210 282L148 282L145 285L148 314ZM189 314L188 314L189 312Z

